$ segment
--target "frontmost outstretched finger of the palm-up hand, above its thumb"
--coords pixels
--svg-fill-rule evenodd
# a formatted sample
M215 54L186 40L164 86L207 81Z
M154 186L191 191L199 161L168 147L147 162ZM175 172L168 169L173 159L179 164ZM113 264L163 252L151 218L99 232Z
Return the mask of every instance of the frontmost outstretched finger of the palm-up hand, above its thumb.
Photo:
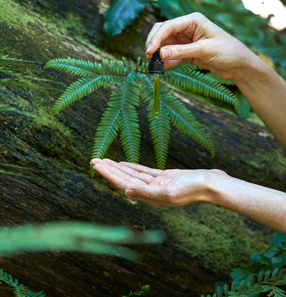
M114 166L109 165L107 162L105 164L97 163L94 166L94 169L107 179L107 181L111 182L116 188L125 192L128 186L132 186L134 184L145 184L141 179L137 179L135 177L131 177L130 175L124 173L122 170L115 168Z

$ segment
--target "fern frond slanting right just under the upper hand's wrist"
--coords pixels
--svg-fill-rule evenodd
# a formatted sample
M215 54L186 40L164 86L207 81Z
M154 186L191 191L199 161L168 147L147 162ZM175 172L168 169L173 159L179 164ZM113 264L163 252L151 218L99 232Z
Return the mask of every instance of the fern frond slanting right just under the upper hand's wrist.
M177 85L183 89L188 89L203 96L210 96L217 100L228 102L239 109L239 100L232 92L209 76L192 69L188 64L178 67L170 72L165 72L164 80Z

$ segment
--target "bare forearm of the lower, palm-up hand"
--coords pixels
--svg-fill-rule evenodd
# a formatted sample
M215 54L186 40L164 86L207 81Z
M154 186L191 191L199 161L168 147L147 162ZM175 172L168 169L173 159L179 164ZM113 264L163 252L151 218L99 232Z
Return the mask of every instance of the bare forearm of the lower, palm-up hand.
M214 184L214 193L211 203L286 233L285 192L225 175L219 183Z

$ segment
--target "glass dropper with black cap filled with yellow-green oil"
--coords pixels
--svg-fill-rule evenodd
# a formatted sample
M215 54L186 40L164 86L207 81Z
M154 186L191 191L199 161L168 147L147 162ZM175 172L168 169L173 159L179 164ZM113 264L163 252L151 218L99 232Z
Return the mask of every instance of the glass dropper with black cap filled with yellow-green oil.
M159 99L159 74L164 74L164 63L159 56L159 49L153 54L152 61L149 63L148 73L154 74L154 114L159 118L160 99Z

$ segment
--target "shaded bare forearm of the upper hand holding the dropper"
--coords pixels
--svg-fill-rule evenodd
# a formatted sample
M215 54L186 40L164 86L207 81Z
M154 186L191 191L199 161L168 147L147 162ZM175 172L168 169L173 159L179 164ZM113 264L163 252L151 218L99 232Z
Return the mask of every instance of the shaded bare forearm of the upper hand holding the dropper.
M255 54L233 79L250 106L286 148L286 82Z

